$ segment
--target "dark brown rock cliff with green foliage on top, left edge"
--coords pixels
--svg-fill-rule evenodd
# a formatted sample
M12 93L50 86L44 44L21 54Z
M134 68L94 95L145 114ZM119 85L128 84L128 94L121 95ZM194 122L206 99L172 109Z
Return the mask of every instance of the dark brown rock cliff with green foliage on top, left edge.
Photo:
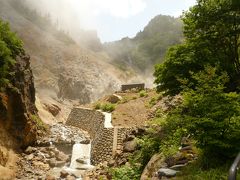
M37 115L30 57L23 42L0 19L0 125L25 147L36 141L46 126ZM1 136L2 137L2 136ZM0 139L3 141L4 139Z

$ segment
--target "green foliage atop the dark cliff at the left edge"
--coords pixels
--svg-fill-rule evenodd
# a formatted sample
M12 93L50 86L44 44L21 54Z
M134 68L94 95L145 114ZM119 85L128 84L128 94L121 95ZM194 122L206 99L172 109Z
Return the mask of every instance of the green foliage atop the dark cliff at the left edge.
M8 23L0 19L0 89L9 82L10 68L16 56L23 52L23 43L10 31Z

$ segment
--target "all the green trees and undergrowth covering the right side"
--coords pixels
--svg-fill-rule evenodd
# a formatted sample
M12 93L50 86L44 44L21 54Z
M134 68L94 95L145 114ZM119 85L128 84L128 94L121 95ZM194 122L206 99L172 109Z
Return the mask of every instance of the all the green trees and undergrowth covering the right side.
M113 179L139 179L147 166L153 168L148 162L156 154L162 159L152 174L197 154L187 166L180 163L175 179L227 178L240 152L239 12L237 1L198 0L183 14L185 40L167 51L154 73L157 91L180 101L168 111L156 109L131 166L115 168ZM191 155L179 156L184 149Z

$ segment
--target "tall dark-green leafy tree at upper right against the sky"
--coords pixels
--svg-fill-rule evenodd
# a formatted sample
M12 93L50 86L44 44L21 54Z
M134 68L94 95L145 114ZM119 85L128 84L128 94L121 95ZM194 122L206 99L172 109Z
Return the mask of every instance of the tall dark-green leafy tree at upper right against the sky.
M190 72L203 70L206 64L226 71L228 89L236 90L240 77L240 6L229 0L198 0L183 14L185 42L168 51L163 65L154 75L159 90L177 94L179 81L194 87Z

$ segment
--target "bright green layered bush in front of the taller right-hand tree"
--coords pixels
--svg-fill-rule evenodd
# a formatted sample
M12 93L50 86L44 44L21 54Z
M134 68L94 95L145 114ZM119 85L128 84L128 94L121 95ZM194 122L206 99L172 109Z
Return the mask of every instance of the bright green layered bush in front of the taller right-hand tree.
M190 134L204 156L235 157L240 151L240 96L224 92L226 73L206 67L192 76L196 89L186 89L183 103L169 113L163 129ZM181 138L181 136L179 136Z

